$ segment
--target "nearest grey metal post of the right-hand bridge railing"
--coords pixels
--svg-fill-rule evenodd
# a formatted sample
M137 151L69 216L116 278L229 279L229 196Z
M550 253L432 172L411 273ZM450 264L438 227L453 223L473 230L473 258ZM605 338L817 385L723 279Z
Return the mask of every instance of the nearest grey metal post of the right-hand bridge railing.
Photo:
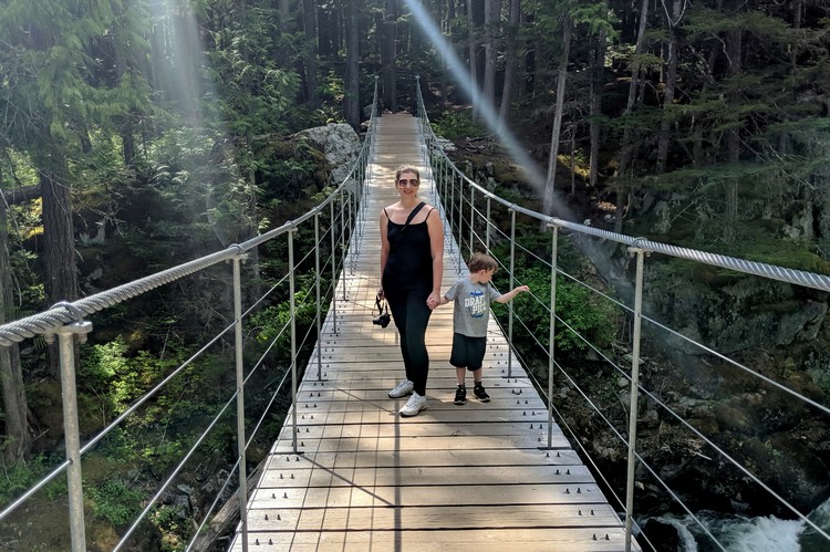
M629 471L625 483L625 552L631 552L631 530L634 520L634 462L636 461L637 395L640 390L640 336L643 316L643 263L645 250L636 247L629 252L637 257L634 293L634 335L631 350L631 410L629 412Z

